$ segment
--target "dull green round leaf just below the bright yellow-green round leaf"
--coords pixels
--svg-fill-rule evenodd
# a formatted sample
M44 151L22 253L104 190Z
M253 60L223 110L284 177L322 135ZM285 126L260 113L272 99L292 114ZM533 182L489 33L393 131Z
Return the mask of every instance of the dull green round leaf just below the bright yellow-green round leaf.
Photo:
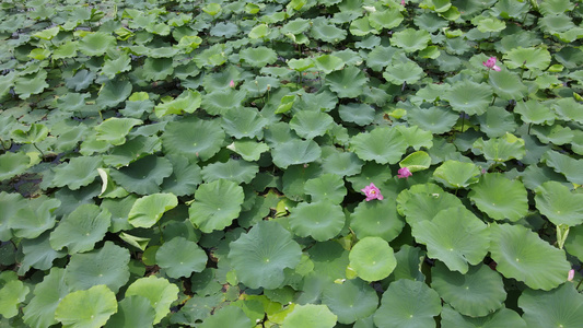
M378 296L368 283L353 279L328 285L322 294L322 303L338 316L338 323L352 324L376 311Z

